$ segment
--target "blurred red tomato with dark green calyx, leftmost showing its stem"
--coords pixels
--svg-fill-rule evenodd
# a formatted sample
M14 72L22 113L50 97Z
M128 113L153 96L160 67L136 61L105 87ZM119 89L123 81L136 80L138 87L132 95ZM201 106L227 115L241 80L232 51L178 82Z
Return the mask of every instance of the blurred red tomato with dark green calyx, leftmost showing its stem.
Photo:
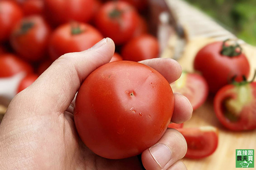
M24 59L41 60L46 51L51 30L41 16L23 18L13 30L10 42Z

